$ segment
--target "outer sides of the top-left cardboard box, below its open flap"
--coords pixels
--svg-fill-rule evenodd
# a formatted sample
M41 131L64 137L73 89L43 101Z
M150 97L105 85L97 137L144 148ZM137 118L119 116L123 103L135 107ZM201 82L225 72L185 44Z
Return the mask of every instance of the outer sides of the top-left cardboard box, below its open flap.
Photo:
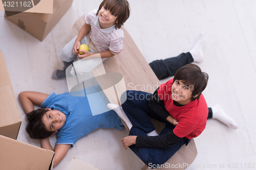
M5 18L42 41L71 7L73 0L54 0L53 13L22 12Z

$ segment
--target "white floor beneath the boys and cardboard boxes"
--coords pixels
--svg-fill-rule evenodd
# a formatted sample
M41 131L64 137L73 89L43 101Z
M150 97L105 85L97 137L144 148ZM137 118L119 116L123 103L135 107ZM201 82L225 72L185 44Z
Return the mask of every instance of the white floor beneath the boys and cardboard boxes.
M189 51L199 34L206 32L205 58L198 64L209 74L203 94L209 107L221 104L227 115L240 126L238 130L231 130L215 119L208 120L204 132L195 138L198 155L188 169L256 168L256 114L253 111L256 1L129 2L132 14L125 22L125 28L148 63ZM98 8L100 3L101 0L74 0L72 7L42 42L6 20L4 12L0 11L0 50L5 56L16 99L25 90L48 94L68 91L66 80L51 79L53 70L62 68L58 54L73 38L75 20ZM162 83L165 81L167 79ZM39 140L30 139L25 132L25 113L19 101L18 107L23 123L17 140L40 147ZM67 169L73 157L100 169L141 169L143 163L137 156L130 149L122 148L120 140L126 135L126 130L98 129L78 140L54 169ZM52 145L55 141L54 136Z

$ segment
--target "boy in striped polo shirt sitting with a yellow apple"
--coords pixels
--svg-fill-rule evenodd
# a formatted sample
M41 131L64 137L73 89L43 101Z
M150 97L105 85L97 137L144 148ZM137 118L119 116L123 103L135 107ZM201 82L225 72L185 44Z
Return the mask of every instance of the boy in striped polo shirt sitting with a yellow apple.
M108 57L113 57L122 51L123 30L121 26L130 16L130 5L126 0L104 0L99 9L95 9L86 14L86 23L82 26L78 36L72 39L62 49L59 58L63 60L64 69L73 62L99 53L104 61ZM90 51L80 52L80 44L87 44ZM78 56L78 57L77 57ZM88 72L97 66L98 60L87 60L87 65L79 72ZM100 64L100 63L99 63ZM93 66L94 65L94 66ZM66 77L65 70L55 70L53 78L61 79Z

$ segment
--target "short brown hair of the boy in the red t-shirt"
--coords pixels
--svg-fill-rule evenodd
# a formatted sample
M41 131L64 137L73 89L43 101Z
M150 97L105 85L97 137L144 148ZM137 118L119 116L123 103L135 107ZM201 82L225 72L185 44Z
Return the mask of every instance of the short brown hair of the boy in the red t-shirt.
M208 78L208 74L206 72L202 72L199 66L196 64L187 64L178 69L174 76L173 83L176 80L180 80L184 85L192 85L193 91L192 98L190 100L194 101L200 98L200 95L207 86ZM197 94L198 96L194 98L194 96Z

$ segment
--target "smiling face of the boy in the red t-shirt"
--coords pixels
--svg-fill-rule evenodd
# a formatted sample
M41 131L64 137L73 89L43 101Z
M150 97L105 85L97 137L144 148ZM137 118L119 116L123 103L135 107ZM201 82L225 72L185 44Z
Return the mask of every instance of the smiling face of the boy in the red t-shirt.
M192 92L193 85L185 85L182 80L175 80L172 86L172 99L181 105L186 105L191 101Z

